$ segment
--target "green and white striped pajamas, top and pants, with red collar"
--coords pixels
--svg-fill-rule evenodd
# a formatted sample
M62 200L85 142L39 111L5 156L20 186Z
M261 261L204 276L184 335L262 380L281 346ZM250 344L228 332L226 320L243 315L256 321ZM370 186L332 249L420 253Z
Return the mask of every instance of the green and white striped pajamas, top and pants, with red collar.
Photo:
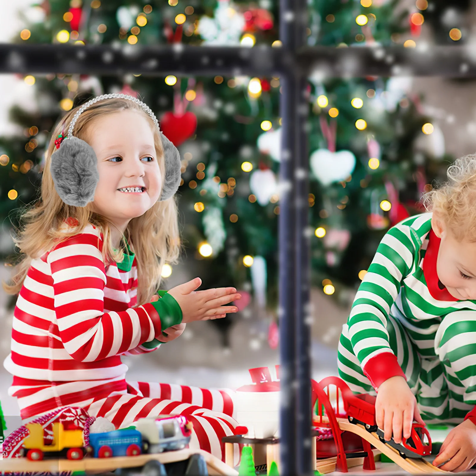
M439 282L431 216L405 219L380 242L342 329L338 369L357 393L405 377L426 421L460 423L476 405L476 301Z

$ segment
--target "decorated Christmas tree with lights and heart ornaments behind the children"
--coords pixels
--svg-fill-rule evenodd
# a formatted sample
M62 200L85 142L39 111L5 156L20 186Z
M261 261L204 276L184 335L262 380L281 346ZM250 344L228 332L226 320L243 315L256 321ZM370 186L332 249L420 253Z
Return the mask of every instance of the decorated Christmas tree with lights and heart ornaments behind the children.
M431 8L431 2L417 0L412 11L397 9L397 3L312 0L307 43L413 47L425 18L435 25L436 38L445 33L439 22L447 14L438 6L441 2ZM467 8L460 3L461 9ZM13 42L75 43L78 48L83 43L139 47L176 42L204 48L263 43L280 47L278 2L270 0L258 5L228 0L44 0L23 15L28 27ZM12 108L11 120L24 136L0 138L4 235L10 232L10 222L18 224L20 209L38 198L43 151L53 124L65 111L102 93L137 95L154 110L161 129L181 152L178 195L185 265L203 279L203 288L252 291L261 307L274 311L278 77L50 74L27 75L24 80L35 88L37 112ZM422 113L421 99L412 95L406 78L335 79L315 71L308 88L312 283L339 297L357 286L388 227L421 211L421 194L434 178L444 177L447 161L442 159L450 158L444 156L441 130ZM6 258L12 248L3 248ZM164 276L169 272L164 269ZM225 331L231 317L213 322Z

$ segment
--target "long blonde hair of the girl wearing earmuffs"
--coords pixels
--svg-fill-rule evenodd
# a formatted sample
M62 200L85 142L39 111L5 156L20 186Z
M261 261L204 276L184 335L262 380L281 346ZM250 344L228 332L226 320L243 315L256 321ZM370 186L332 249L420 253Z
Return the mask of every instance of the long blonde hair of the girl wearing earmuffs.
M92 202L89 202L85 207L65 204L56 192L51 177L51 154L56 150L54 141L58 134L66 133L69 123L79 107L71 109L51 134L49 146L45 151L41 198L22 213L20 228L16 230L16 237L13 238L15 246L20 249L20 257L13 269L11 284L2 281L3 289L8 294L20 292L32 259L39 258L49 251L58 240L65 240L80 233L88 223L97 226L103 233L102 256L104 263L107 265L112 261L120 262L123 258L122 249L114 251L111 243L111 227L118 230L119 228L108 218L95 213ZM149 121L154 134L160 173L162 177L165 177L160 132L149 114L133 101L121 98L103 99L89 106L79 115L74 127L74 135L88 142L93 133L90 127L92 121L100 119L105 114L123 110L137 111ZM69 217L76 218L79 222L78 226L72 230L61 231L60 227ZM131 251L136 254L139 282L137 303L141 305L149 302L159 288L164 263L176 262L179 255L180 239L176 198L158 201L140 217L132 218L124 235L129 242Z

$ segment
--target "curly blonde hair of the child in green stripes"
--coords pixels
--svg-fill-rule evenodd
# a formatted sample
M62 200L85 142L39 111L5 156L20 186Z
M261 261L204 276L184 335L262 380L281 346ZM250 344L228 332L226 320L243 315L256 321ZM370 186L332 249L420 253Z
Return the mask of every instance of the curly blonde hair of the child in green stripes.
M446 174L448 180L426 192L422 202L458 241L476 242L476 155L456 159Z

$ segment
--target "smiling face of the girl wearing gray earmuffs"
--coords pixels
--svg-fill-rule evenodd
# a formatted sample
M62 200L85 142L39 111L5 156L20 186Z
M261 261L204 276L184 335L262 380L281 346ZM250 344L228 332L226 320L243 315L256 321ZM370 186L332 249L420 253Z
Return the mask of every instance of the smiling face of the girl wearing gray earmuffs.
M94 211L124 232L132 218L157 202L162 189L161 158L157 157L151 126L141 113L123 110L96 119L89 126L89 137L99 172ZM125 187L142 187L143 191L119 191Z

